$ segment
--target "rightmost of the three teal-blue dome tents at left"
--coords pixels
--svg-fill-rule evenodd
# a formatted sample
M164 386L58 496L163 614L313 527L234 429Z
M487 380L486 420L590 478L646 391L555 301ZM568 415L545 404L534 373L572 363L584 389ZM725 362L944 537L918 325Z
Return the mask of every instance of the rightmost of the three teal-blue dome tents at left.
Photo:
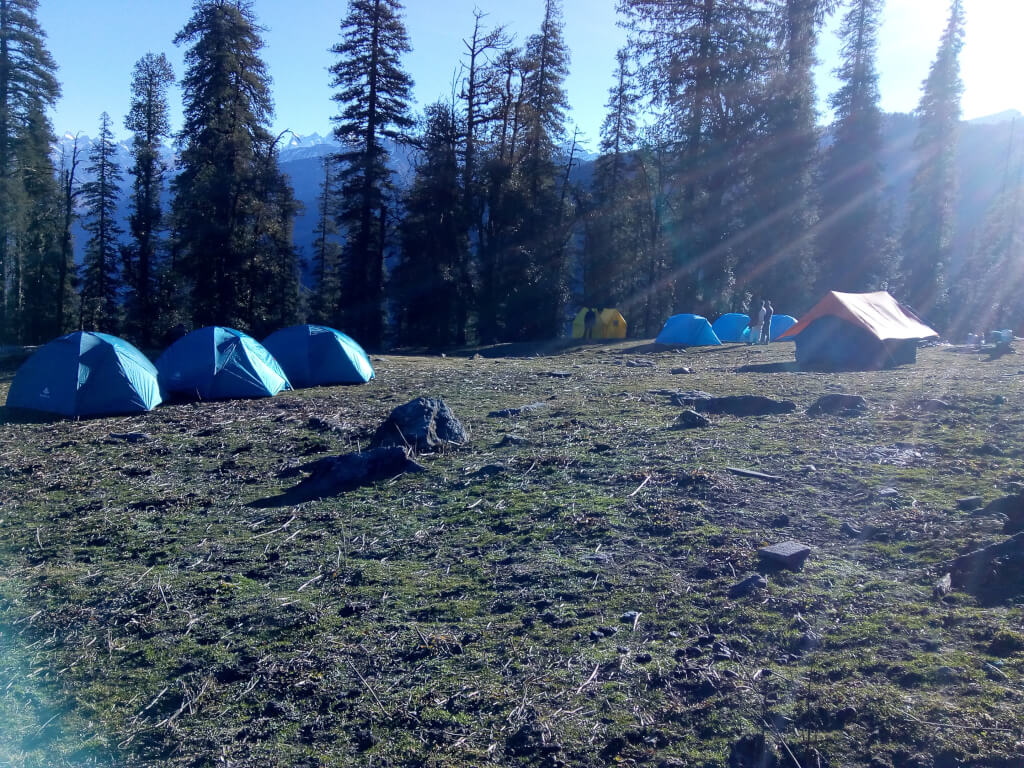
M293 387L366 384L370 357L351 337L326 326L291 326L263 339Z

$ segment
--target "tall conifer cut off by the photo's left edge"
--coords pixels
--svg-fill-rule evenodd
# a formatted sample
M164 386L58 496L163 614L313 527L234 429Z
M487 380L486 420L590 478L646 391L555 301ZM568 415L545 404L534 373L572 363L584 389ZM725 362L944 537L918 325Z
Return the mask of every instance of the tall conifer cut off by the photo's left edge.
M0 0L0 342L40 341L56 328L48 275L59 258L59 203L46 111L60 86L38 7Z

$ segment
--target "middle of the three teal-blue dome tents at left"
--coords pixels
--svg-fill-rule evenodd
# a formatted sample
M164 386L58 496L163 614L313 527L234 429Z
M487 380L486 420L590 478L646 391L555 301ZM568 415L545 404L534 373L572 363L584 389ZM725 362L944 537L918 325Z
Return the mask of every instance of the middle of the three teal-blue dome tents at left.
M291 389L285 372L262 344L220 326L182 336L160 355L157 370L165 392L204 400L268 397Z

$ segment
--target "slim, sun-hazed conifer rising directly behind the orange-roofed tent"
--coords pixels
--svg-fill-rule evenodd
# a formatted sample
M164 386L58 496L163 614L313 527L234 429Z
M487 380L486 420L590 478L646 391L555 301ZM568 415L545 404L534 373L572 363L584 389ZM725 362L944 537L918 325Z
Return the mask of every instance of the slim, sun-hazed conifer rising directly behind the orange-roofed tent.
M902 298L922 316L942 325L948 289L946 271L952 245L956 199L956 134L964 84L959 52L964 47L964 2L952 0L918 104L914 154L918 169L910 184L903 233Z

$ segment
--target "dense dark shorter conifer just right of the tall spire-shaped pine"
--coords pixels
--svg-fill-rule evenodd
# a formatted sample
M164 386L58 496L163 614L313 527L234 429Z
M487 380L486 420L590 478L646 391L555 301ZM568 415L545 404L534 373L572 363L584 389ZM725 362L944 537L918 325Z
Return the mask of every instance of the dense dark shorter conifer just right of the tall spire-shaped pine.
M468 239L459 183L461 133L452 104L427 108L422 161L406 197L395 274L401 335L409 343L465 342Z

